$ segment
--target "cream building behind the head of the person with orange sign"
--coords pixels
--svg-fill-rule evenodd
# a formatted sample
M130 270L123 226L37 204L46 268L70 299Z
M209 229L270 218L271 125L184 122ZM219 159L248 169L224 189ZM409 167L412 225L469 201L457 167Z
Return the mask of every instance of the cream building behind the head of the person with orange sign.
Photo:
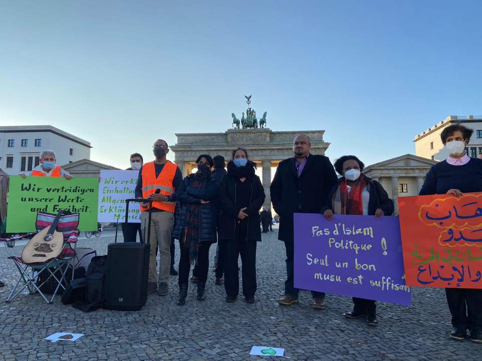
M445 127L452 124L461 124L473 129L472 137L465 151L467 155L472 158L482 154L482 116L479 115L450 115L445 120L434 124L433 127L417 134L413 140L415 142L415 154L431 160L440 161L446 159L448 157L448 151L442 144L440 133Z

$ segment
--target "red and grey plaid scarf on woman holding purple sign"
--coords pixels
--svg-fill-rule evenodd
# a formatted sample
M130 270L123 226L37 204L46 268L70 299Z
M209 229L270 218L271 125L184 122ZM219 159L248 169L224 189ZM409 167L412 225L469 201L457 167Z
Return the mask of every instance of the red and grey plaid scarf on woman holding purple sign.
M363 175L353 182L350 192L348 192L346 179L343 179L331 198L333 213L363 215L362 192L365 187L368 187L368 182Z

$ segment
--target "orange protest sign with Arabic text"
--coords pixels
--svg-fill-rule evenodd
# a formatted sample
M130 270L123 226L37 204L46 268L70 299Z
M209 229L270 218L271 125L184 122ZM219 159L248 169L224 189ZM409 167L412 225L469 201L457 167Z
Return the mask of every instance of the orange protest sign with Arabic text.
M482 288L482 193L399 197L409 286Z

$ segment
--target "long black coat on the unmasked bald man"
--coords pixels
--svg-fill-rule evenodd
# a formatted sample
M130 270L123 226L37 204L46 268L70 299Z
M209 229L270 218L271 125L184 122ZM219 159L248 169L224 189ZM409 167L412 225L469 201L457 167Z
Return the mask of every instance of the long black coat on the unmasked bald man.
M324 155L310 154L299 177L294 158L281 161L270 187L280 216L278 239L293 242L293 213L319 213L336 182L335 169Z

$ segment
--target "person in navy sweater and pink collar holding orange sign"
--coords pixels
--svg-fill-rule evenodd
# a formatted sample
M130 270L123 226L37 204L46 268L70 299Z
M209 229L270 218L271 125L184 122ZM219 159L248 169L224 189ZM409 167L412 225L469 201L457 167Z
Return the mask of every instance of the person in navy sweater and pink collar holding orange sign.
M449 194L461 197L464 193L482 192L482 159L465 153L473 130L460 124L446 127L440 138L449 157L432 165L419 196ZM450 337L463 340L470 331L470 340L482 343L482 289L445 288L448 308L452 314Z

